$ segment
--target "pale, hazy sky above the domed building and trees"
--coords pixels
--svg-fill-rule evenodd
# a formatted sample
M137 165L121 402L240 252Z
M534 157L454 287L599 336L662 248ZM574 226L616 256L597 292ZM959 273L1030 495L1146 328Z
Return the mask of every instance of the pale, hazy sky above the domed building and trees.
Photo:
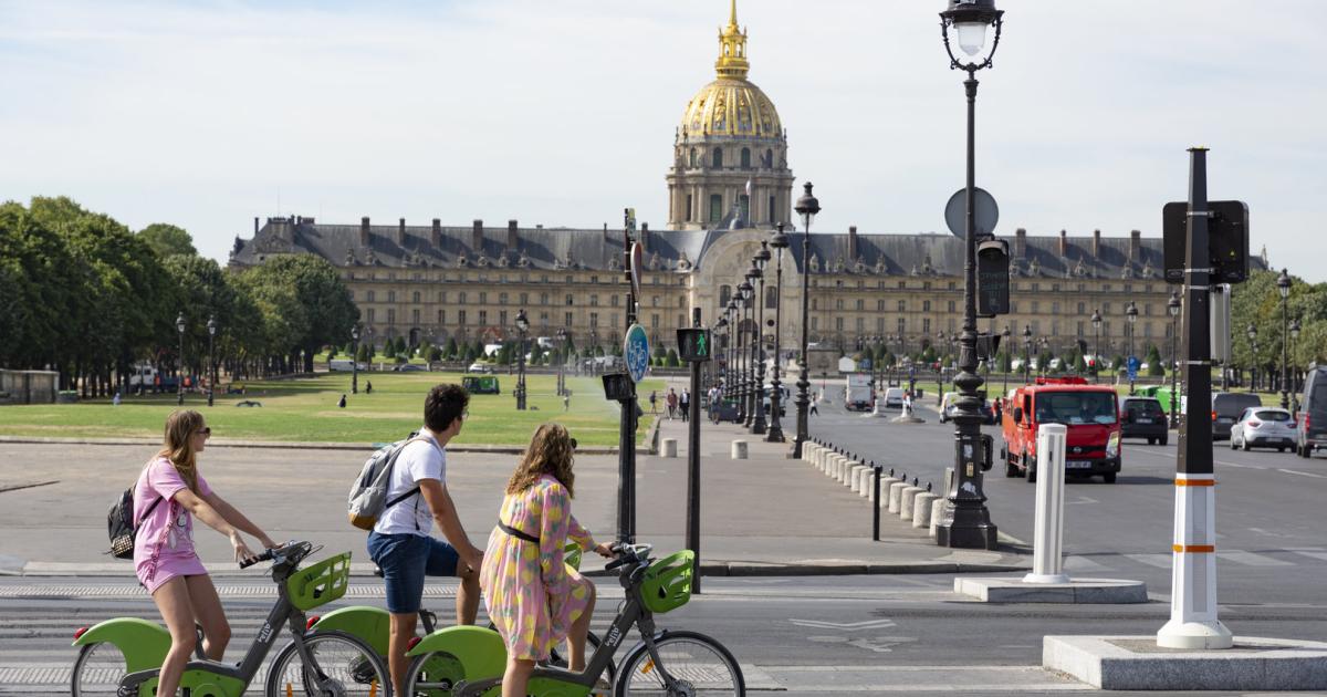
M1314 0L999 0L977 183L998 234L1161 235L1206 146L1251 251L1327 280ZM963 73L943 0L738 0L815 231L943 232ZM224 263L253 218L667 223L664 177L727 0L0 0L0 199L174 223Z

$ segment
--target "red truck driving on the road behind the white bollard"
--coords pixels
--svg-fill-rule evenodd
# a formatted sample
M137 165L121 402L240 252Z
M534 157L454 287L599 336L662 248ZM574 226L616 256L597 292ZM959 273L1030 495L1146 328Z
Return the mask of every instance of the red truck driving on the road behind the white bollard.
M1115 389L1088 385L1082 377L1039 377L1014 390L1005 405L1006 477L1036 481L1036 429L1063 424L1068 430L1064 471L1068 477L1100 474L1115 483L1120 471L1120 405Z

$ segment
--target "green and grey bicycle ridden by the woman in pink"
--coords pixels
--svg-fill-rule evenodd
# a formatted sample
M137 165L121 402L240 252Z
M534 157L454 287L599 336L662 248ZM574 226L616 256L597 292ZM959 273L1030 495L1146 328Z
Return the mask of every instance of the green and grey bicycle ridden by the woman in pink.
M389 692L387 669L364 641L344 632L305 635L305 612L344 596L350 578L350 552L299 568L300 562L320 548L291 542L240 563L245 568L272 562L276 603L243 661L194 660L184 666L180 688L186 697L240 697L257 677L283 624L292 640L267 672L268 697L377 697ZM70 694L153 697L170 644L165 628L138 617L115 617L78 629L73 645L81 649L74 660ZM358 676L350 674L352 668Z

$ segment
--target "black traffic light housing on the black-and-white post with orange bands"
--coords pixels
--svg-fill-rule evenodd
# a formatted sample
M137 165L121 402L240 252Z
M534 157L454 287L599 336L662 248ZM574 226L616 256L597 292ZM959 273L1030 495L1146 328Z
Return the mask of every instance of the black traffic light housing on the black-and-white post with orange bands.
M1249 206L1242 200L1208 203L1208 283L1249 280ZM1189 243L1189 204L1172 202L1161 207L1165 281L1184 283Z

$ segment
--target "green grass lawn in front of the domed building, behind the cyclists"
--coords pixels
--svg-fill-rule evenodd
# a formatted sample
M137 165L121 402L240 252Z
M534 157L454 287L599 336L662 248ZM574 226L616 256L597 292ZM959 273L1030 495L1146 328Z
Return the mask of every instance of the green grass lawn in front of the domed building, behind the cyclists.
M249 381L247 394L218 394L207 408L203 394L186 394L184 406L207 417L219 438L251 441L382 442L403 438L423 424L423 397L438 382L459 382L460 373L360 373L360 394L350 394L350 373L326 373L312 378ZM527 376L525 412L516 410L512 389L516 376L498 376L502 394L474 394L470 420L455 443L523 445L545 421L565 425L584 445L617 445L618 404L604 400L597 377L567 377L572 390L571 410L563 412L556 396L556 376ZM365 385L373 382L373 394ZM648 394L662 389L662 380L646 380L637 389ZM345 409L337 400L346 394ZM253 400L261 408L238 408ZM175 396L125 397L119 406L110 400L69 405L0 408L0 435L41 437L151 437L159 438ZM646 409L648 412L648 409ZM637 442L644 441L653 417L641 417Z

